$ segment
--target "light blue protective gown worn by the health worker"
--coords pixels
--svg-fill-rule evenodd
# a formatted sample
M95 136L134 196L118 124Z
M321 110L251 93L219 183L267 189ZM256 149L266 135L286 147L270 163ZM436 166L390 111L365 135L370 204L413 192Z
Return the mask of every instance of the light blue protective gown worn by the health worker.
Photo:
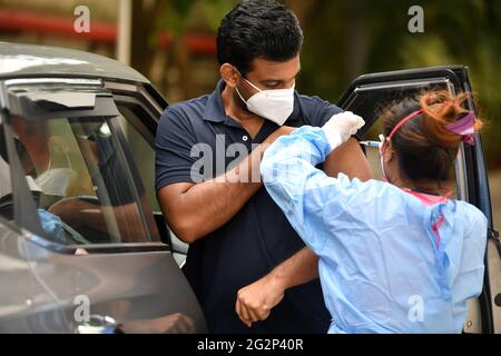
M266 190L320 257L328 333L461 333L466 300L482 290L485 216L389 182L328 177L315 166L331 151L324 130L306 126L275 141L261 166Z

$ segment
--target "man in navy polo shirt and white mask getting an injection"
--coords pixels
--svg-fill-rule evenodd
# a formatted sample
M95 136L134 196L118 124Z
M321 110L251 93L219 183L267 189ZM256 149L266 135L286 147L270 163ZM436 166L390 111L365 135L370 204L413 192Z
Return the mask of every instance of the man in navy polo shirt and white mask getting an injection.
M174 233L190 244L184 270L212 333L326 333L330 325L318 279L307 283L318 275L317 258L259 179L259 144L341 111L294 91L302 42L283 6L242 2L218 30L216 90L170 106L160 119L157 196ZM370 176L354 139L323 169Z

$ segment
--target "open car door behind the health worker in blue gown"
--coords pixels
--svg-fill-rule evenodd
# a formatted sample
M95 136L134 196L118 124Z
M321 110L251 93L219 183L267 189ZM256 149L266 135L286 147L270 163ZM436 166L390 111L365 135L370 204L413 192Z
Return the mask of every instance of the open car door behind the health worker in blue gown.
M446 89L453 93L471 92L468 68L434 67L394 72L373 73L355 79L341 97L338 106L360 115L366 121L358 131L361 140L379 140L382 122L380 109L425 89ZM472 100L468 103L475 111ZM375 178L381 178L377 148L364 148ZM480 134L475 146L462 145L455 164L455 177L449 184L454 198L477 206L489 220L483 291L468 304L464 333L501 333L501 247L499 234L492 226L489 181Z

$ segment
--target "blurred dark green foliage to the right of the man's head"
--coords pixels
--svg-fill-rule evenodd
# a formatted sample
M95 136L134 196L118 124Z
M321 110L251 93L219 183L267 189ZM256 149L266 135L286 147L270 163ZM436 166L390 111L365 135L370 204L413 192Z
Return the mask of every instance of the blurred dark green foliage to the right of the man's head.
M424 33L407 30L407 10L415 1L314 2L303 19L303 91L335 101L351 80L366 72L468 66L488 119L482 137L489 164L501 166L501 1L420 1Z

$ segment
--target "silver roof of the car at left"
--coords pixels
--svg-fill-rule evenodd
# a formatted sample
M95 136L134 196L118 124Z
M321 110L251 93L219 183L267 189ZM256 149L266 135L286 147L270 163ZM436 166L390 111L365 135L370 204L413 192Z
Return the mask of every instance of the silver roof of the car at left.
M0 42L0 79L46 76L149 83L138 71L104 56L60 47Z

